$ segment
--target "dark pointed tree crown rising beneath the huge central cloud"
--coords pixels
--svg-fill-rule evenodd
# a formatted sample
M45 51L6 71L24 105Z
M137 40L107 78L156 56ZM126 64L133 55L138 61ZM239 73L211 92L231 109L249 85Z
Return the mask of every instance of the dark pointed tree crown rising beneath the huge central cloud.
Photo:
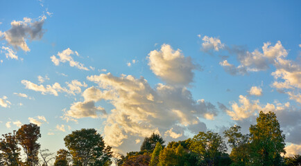
M153 133L150 137L144 138L140 150L153 152L157 142L160 142L162 147L164 147L165 140L159 134Z

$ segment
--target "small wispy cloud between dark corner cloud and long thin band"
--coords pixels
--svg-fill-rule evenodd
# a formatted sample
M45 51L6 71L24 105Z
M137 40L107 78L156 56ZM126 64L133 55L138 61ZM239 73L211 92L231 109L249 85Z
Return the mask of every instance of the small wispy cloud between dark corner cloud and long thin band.
M60 62L66 63L69 62L69 65L71 67L79 68L80 70L89 71L89 68L85 67L83 64L80 64L80 62L74 61L73 57L71 55L78 55L78 52L71 50L70 48L67 48L66 50L63 50L62 52L58 52L58 57L55 57L55 55L52 55L51 61L55 66L58 66Z

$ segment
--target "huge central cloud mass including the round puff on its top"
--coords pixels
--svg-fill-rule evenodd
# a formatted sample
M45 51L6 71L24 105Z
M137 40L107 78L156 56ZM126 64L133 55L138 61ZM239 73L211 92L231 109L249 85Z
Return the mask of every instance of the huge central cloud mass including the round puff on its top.
M91 75L87 80L95 82L98 87L86 89L83 92L84 101L72 104L65 116L93 118L97 115L106 118L104 139L112 147L119 147L124 141L128 144L131 140L135 145L136 140L153 132L169 138L180 138L186 130L191 133L206 130L200 118L212 120L216 116L216 107L205 100L194 100L184 86L193 80L191 70L196 66L180 50L172 50L166 44L162 45L160 51L151 51L148 59L150 68L167 84L157 84L152 88L144 77L117 77L111 73ZM94 103L101 100L110 102L114 109L107 114L104 111L95 114L97 110ZM87 103L92 107L78 107Z

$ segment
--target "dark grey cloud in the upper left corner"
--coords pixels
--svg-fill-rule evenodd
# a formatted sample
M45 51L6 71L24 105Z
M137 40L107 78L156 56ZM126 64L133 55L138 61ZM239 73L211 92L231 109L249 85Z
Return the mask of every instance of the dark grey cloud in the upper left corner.
M26 44L26 39L40 40L45 30L42 28L46 17L41 16L37 21L24 17L23 21L12 21L11 28L4 33L0 31L0 37L8 42L11 46L22 48L24 51L30 51Z

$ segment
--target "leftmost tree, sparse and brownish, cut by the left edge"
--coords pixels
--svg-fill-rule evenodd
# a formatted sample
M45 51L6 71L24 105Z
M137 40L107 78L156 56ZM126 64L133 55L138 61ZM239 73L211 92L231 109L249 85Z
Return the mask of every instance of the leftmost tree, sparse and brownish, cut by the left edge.
M20 165L20 148L16 138L16 131L13 133L2 134L3 138L0 139L0 150L3 163L1 165ZM1 162L1 161L0 161ZM4 164L5 163L5 164Z

